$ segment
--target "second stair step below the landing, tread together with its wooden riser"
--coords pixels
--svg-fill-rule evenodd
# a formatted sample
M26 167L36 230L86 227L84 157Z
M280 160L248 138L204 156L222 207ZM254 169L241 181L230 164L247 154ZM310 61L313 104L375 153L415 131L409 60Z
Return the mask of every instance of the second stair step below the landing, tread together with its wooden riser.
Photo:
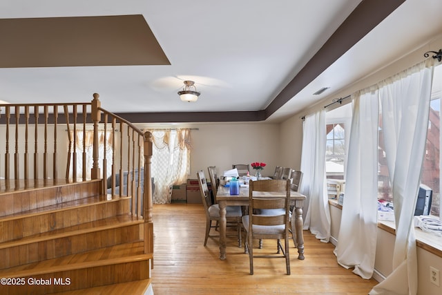
M143 239L144 220L125 214L0 244L0 269Z

